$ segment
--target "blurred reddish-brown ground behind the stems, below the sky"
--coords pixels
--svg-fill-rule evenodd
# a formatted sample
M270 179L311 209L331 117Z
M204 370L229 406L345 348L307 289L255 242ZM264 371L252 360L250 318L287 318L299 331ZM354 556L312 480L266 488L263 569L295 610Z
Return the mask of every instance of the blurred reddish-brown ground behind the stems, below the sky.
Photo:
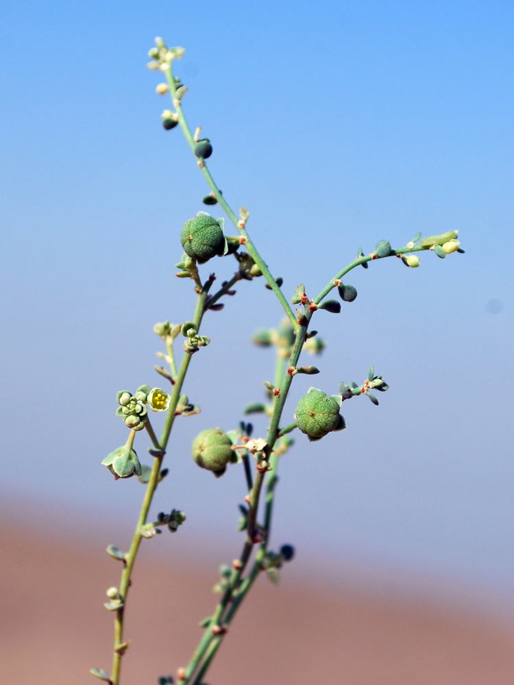
M102 607L119 569L102 545L0 533L0 682L94 685L109 668L112 614ZM127 610L123 685L156 685L185 664L212 610L212 573L142 562ZM211 685L513 685L504 625L374 595L257 584L238 615Z

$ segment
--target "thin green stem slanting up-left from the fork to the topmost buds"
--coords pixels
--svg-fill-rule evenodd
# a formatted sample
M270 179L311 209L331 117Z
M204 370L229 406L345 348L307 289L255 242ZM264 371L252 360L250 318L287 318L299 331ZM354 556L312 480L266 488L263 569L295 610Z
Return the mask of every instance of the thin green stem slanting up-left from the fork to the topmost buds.
M171 69L171 66L169 69L166 70L165 73L166 73L166 77L167 77L167 81L168 81L168 85L169 85L171 99L173 100L173 106L175 107L175 112L178 114L178 122L180 123L180 127L182 128L182 132L184 132L184 136L186 137L186 140L189 144L189 147L191 147L191 150L193 151L193 154L194 154L195 153L195 140L193 139L193 135L191 134L191 129L189 128L188 123L186 122L184 112L182 112L182 105L180 104L180 100L177 99L177 90L175 88L175 81L173 79L173 71ZM195 155L195 159L197 159L196 155ZM212 190L213 195L215 196L215 198L217 199L217 201L219 202L221 207L223 207L223 209L225 210L230 221L232 221L232 223L236 227L239 235L244 238L243 242L245 244L245 248L248 250L250 256L252 256L254 262L258 265L260 271L262 271L262 275L264 275L265 279L267 280L267 282L269 284L269 287L271 288L271 290L273 290L273 292L277 296L278 301L280 302L280 304L284 308L284 312L286 312L289 321L291 321L291 324L293 325L293 328L296 331L298 329L298 322L296 320L296 316L295 316L293 310L291 309L289 302L284 297L284 293L282 292L282 290L280 290L276 280L273 278L273 276L271 275L271 272L269 271L267 265L265 264L265 262L262 260L262 257L258 253L257 248L255 247L254 242L252 241L252 238L250 238L250 236L248 235L248 232L246 230L245 225L241 221L239 221L236 214L234 214L234 212L232 211L232 209L228 205L228 203L225 200L225 198L223 197L223 195L221 195L221 192L219 192L219 188L215 184L215 181L212 178L212 175L210 174L210 171L208 170L204 160L198 160L197 159L197 163L201 169L201 173L204 174L204 177L205 177L210 189Z

